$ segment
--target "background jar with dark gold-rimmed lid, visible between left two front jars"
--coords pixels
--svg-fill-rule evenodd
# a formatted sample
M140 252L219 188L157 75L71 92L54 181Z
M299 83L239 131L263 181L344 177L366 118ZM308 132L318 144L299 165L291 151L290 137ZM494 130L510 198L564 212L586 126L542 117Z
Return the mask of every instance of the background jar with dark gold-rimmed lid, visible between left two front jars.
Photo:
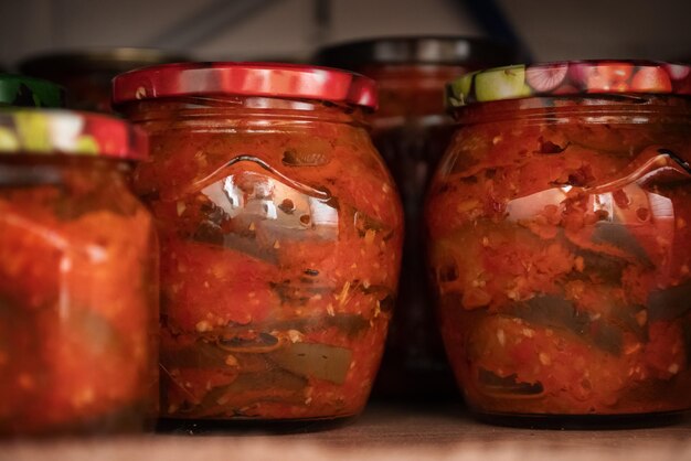
M111 112L110 81L117 74L155 64L187 61L156 49L94 49L41 54L22 61L22 74L46 78L67 89L67 107Z

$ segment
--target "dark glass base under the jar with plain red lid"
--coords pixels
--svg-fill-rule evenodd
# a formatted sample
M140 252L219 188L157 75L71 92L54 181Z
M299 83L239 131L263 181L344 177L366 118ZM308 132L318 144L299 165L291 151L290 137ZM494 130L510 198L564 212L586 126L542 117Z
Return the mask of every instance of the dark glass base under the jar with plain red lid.
M350 425L358 418L357 415L305 418L305 419L182 419L161 418L158 420L156 431L170 435L214 435L214 433L268 433L287 435L320 432Z

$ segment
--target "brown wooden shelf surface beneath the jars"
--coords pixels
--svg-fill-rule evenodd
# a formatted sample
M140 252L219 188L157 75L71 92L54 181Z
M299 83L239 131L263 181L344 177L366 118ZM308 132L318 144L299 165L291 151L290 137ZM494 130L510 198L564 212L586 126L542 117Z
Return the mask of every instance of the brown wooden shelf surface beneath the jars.
M457 404L372 404L337 427L224 428L89 440L4 441L1 461L691 460L691 421L626 430L538 430L475 421Z

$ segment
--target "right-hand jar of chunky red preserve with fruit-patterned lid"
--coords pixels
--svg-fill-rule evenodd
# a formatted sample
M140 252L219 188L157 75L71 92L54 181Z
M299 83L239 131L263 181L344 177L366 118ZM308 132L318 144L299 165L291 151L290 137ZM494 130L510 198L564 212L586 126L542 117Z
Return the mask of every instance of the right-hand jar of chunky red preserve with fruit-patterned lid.
M449 85L429 267L480 417L655 424L691 407L690 68L571 62Z

